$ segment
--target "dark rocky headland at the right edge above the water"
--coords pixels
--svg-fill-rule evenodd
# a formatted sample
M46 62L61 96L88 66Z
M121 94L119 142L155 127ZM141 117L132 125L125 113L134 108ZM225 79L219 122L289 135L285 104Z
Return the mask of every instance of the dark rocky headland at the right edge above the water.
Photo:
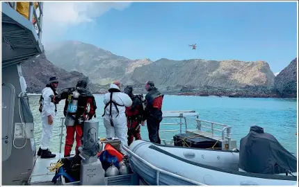
M297 57L275 77L274 89L282 98L297 97Z

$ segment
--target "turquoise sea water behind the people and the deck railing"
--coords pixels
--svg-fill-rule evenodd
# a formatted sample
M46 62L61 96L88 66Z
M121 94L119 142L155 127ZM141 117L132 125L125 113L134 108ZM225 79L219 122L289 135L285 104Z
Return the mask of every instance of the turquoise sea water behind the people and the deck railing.
M40 112L38 111L40 96L29 96L31 111L35 123L35 143L40 144L42 125ZM95 95L97 102L97 119L99 120L99 136L105 137L102 114L104 112L103 95ZM54 132L50 149L58 152L60 145L60 118L63 117L65 101L58 104L58 114L54 121ZM289 152L297 152L297 100L282 98L227 98L227 97L200 97L200 96L164 96L164 111L195 110L199 118L204 121L212 121L232 126L232 138L239 141L246 136L250 126L259 125L264 132L273 134L275 138ZM161 123L179 123L179 118L164 118ZM195 117L187 118L188 129L195 129ZM209 126L211 124L202 124ZM170 141L175 134L179 134L179 125L163 125L160 130L177 130L177 132L160 132L161 139ZM184 132L184 126L182 128ZM204 129L203 129L204 130ZM63 143L65 142L65 127L63 130ZM147 127L141 127L141 136L148 140ZM64 144L63 144L64 148ZM62 148L62 150L63 150Z

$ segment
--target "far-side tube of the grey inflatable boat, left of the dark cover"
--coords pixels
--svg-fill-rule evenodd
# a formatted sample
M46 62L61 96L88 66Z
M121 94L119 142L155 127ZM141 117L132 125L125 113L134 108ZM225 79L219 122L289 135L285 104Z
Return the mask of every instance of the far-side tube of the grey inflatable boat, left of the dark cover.
M135 150L140 149L140 147L142 147L141 149L148 149L151 145L195 163L203 163L207 166L215 166L224 169L239 170L239 151L177 147L172 145L160 145L143 140L131 143L130 150L135 152Z

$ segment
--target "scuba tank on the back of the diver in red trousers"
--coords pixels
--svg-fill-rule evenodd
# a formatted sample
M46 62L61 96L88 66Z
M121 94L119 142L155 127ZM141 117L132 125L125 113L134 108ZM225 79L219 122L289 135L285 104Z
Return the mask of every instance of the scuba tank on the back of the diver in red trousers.
M79 92L75 89L67 98L69 105L67 106L67 115L65 116L65 125L74 126L76 120L76 111L78 109Z

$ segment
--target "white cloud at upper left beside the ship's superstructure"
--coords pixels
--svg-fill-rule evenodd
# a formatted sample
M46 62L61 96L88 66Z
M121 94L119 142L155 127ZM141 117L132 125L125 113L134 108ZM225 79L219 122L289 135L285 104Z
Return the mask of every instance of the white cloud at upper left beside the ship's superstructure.
M91 23L108 10L124 10L130 2L45 2L42 40L65 34L70 26Z

